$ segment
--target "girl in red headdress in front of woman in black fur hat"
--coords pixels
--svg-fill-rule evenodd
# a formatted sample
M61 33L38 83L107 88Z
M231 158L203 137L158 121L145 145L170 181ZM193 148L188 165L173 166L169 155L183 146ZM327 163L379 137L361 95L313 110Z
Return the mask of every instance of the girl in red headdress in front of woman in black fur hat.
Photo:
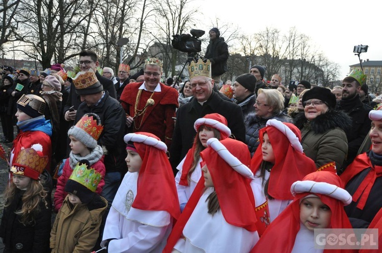
M316 166L303 153L301 132L291 123L270 119L259 138L250 168L268 198L272 222L293 200L289 191L292 183L316 171Z

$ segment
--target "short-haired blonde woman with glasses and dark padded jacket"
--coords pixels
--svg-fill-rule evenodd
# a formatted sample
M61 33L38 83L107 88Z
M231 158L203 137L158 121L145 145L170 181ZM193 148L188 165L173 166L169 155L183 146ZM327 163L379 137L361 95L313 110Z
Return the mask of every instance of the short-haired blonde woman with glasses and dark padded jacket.
M250 112L244 119L245 143L248 144L251 156L259 146L259 131L265 127L266 121L275 118L281 122L292 122L282 111L284 96L277 89L259 89L254 112Z

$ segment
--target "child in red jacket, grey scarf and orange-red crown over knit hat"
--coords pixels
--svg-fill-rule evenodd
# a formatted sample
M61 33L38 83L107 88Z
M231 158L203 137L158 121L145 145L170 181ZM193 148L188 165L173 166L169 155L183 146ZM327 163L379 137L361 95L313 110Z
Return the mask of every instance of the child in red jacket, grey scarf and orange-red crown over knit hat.
M64 190L65 184L72 174L73 168L81 160L89 161L90 167L102 176L96 193L100 194L102 192L102 186L105 184L103 179L105 165L103 164L102 147L97 144L103 130L100 122L97 114L87 113L68 131L71 151L69 159L65 161L62 175L57 180L57 189L54 193L54 210L56 212L60 210L67 195Z

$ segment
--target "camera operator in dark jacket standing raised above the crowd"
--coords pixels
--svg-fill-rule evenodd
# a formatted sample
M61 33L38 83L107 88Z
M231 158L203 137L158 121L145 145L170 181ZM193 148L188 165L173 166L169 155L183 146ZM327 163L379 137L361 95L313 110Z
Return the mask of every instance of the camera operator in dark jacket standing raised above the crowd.
M220 31L216 27L212 28L208 34L210 41L204 57L211 61L212 79L220 83L222 82L220 77L228 70L228 45L224 42L224 38L220 37Z

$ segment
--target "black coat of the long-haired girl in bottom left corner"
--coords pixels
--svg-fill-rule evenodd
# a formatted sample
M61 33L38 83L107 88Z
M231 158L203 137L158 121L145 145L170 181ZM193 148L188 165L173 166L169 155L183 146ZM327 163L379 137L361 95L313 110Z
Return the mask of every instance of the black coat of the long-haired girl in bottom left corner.
M4 209L0 225L0 237L5 244L4 252L50 252L51 209L46 208L44 202L40 201L35 225L24 226L19 222L20 215L15 213L21 209L24 192L17 189L11 205Z

